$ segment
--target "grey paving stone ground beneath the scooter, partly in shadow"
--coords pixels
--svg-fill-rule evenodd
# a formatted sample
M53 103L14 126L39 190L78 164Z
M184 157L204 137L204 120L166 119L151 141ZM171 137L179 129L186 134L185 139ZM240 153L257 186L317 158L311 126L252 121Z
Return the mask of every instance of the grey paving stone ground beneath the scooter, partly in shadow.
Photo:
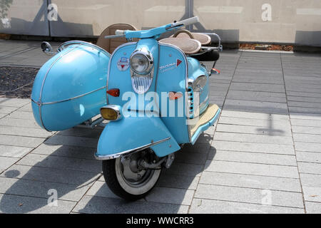
M39 51L26 45L16 55L30 47ZM221 74L210 77L218 123L176 153L150 195L130 203L108 189L93 157L101 130L48 133L30 100L0 98L0 213L320 213L320 62L223 51Z

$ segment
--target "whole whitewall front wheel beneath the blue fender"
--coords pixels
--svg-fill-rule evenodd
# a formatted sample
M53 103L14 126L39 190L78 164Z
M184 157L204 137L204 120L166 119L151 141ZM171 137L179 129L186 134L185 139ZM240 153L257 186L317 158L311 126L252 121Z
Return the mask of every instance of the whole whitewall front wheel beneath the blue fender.
M103 177L111 191L127 200L140 199L156 185L161 175L161 167L144 169L140 161L153 162L155 154L151 150L135 152L113 160L103 161Z

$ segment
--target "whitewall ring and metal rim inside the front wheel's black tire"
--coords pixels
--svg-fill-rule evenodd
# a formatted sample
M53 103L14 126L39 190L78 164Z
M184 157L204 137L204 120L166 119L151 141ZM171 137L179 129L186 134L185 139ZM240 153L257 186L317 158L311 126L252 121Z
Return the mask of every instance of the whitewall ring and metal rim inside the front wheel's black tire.
M161 170L143 170L138 168L137 162L142 158L141 152L116 159L116 176L119 184L132 195L141 195L153 188Z

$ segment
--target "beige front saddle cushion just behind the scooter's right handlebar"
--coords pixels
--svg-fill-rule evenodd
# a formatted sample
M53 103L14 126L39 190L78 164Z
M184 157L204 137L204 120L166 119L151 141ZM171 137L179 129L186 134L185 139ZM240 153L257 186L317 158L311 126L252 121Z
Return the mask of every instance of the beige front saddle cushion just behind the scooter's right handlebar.
M200 41L196 41L194 39L191 39L190 37L188 38L169 37L169 38L163 38L159 42L175 45L178 48L180 48L185 54L198 53L198 51L200 51L200 47L202 46L200 44Z

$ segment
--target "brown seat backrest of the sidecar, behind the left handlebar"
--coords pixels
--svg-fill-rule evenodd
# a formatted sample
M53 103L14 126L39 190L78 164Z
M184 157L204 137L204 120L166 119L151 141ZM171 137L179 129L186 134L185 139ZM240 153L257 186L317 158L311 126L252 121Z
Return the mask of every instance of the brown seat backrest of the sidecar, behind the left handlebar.
M121 46L123 43L127 43L126 38L105 38L105 36L115 35L115 31L119 30L133 30L136 31L137 29L130 25L130 24L113 24L108 26L99 36L98 41L96 43L97 46L105 49L109 53L113 53L118 46ZM138 39L133 39L133 41L138 41Z

